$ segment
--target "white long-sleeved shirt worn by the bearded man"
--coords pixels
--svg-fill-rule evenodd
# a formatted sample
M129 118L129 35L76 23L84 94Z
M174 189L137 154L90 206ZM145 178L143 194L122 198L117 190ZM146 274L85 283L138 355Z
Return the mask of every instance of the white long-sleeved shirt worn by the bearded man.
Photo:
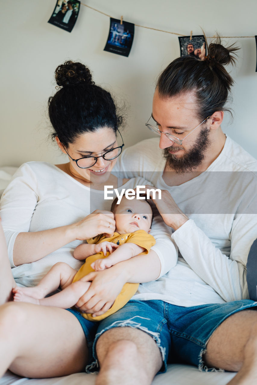
M141 176L168 190L190 218L172 234L179 248L176 266L139 285L134 298L179 306L249 298L246 262L257 238L257 161L227 137L205 172L172 187L162 177L165 162L159 138L153 138L125 149L114 167L119 176Z

